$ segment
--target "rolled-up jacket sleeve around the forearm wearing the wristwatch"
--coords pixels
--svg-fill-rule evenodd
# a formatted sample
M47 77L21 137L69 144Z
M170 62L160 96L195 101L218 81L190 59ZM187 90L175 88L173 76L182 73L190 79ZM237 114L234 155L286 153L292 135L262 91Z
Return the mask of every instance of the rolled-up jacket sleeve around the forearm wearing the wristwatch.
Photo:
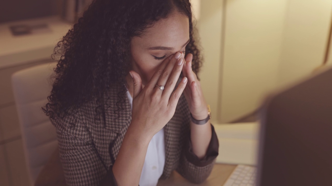
M180 164L176 169L187 180L193 183L202 183L210 175L215 159L218 156L219 142L214 127L211 124L212 135L207 148L206 156L199 159L192 150L190 131L187 133L185 148L181 154Z

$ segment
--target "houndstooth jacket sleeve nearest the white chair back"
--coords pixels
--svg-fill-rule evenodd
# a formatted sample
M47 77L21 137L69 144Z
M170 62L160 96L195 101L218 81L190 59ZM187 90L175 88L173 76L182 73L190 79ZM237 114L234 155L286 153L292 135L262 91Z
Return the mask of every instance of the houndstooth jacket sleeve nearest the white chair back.
M75 130L66 127L68 120L52 121L56 128L66 185L116 186L112 165L104 165L92 139L86 135L88 131L77 121Z

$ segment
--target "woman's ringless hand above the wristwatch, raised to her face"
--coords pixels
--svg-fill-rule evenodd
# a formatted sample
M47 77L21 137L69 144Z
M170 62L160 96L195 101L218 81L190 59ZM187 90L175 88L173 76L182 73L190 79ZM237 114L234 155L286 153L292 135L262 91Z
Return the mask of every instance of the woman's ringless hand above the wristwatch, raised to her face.
M184 59L184 55L181 56ZM203 96L201 83L197 79L197 75L192 70L192 61L193 55L188 54L185 59L186 63L182 69L183 75L188 78L188 83L184 90L184 94L192 116L197 120L203 120L207 117L207 104Z

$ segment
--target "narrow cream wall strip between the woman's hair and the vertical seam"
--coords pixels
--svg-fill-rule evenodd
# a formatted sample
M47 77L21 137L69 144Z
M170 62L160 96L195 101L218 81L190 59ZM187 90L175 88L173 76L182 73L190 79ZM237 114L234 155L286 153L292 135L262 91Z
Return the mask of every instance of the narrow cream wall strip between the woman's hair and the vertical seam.
M207 104L211 107L211 122L218 122L218 98L220 77L221 23L223 2L220 0L201 1L200 19L197 23L201 45L204 49L204 64L200 72L201 85Z

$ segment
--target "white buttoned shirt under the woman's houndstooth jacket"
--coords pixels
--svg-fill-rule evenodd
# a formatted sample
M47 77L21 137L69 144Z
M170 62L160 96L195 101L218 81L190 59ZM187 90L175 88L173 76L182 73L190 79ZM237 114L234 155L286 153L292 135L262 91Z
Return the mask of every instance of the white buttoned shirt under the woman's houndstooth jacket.
M132 109L132 97L127 91ZM156 186L165 166L164 129L157 132L151 139L145 156L145 161L139 179L139 186Z

